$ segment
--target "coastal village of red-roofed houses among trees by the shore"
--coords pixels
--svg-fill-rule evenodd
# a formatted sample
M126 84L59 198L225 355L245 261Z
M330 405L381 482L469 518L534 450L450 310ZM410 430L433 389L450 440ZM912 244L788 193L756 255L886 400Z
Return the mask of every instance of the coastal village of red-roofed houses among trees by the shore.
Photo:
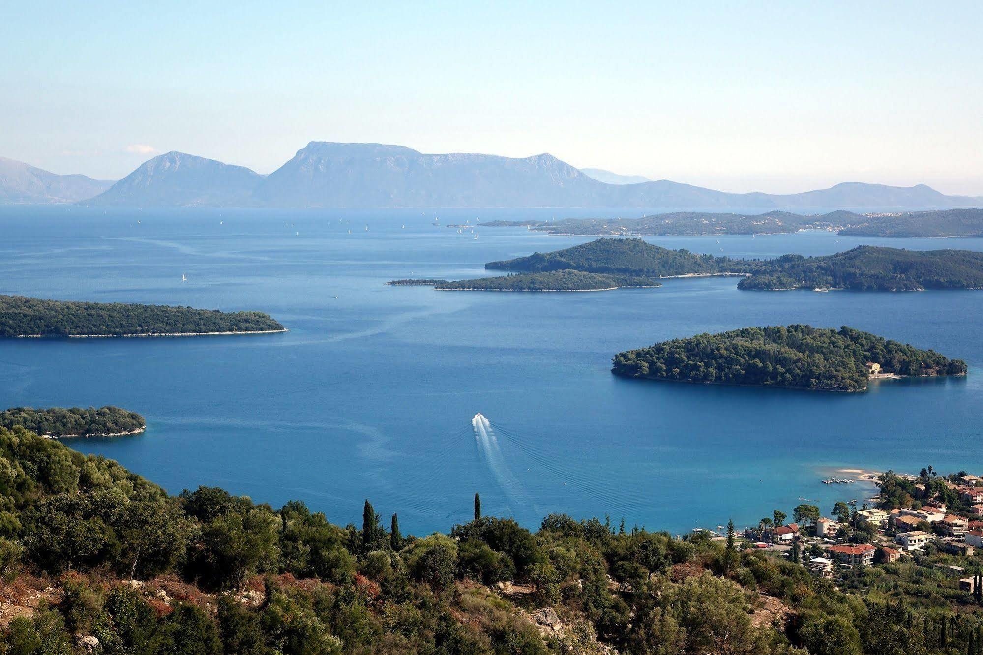
M839 502L823 515L818 506L781 510L744 529L743 548L774 553L817 577L840 580L848 569L911 564L952 578L949 586L983 596L983 478L959 472L940 476L860 473L859 480L829 478L824 484L873 482L879 493L857 508ZM696 531L700 531L697 528ZM735 535L739 539L738 535ZM726 539L720 535L715 539Z

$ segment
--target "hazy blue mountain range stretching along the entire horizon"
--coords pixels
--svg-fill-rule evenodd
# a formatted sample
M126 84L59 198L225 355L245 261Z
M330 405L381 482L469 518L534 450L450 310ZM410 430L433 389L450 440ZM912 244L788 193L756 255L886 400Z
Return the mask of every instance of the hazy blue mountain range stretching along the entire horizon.
M21 164L25 165L25 164ZM38 169L32 169L39 173ZM614 175L588 169L594 175ZM51 175L50 173L45 173ZM72 200L90 206L270 208L701 208L729 210L981 207L983 198L946 196L924 185L844 183L801 194L731 194L659 180L610 184L550 154L424 154L401 146L311 142L269 175L182 152L156 156L110 188L96 185ZM37 200L7 191L0 202ZM102 186L99 186L102 185ZM24 187L23 182L11 185ZM101 193L100 193L101 192ZM6 195L4 195L6 194ZM88 197L87 197L88 196ZM94 196L94 197L93 197ZM8 198L24 198L9 200Z

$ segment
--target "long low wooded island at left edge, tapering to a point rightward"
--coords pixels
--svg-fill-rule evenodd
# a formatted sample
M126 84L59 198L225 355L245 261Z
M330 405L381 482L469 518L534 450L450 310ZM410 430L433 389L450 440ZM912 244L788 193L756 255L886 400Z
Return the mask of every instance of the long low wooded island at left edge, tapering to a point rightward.
M0 337L183 336L282 331L286 328L261 312L0 295Z

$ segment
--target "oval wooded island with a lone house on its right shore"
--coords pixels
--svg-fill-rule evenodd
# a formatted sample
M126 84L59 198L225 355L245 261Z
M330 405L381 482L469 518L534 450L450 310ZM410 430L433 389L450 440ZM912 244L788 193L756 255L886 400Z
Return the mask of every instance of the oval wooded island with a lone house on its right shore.
M896 376L957 376L960 359L850 327L743 327L662 341L614 356L628 378L825 391L867 388L868 364Z

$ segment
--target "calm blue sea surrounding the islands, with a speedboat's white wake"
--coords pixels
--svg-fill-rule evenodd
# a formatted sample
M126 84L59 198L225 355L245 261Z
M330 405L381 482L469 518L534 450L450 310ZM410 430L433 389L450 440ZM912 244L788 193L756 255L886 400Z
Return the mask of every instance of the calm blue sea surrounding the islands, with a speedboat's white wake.
M69 445L174 493L205 484L272 506L302 499L340 523L359 520L369 498L418 534L467 520L475 492L487 513L530 527L561 511L678 532L757 522L802 499L825 511L862 502L869 487L820 483L841 467L983 470L983 291L740 292L732 278L566 294L385 286L479 276L491 260L588 240L511 228L475 239L433 220L416 210L3 208L0 293L258 309L290 331L0 341L0 405L120 405L145 415L145 435ZM861 243L983 251L981 239L828 232L647 240L733 257ZM839 395L608 371L623 349L789 323L934 347L971 373ZM476 436L477 412L491 430Z

